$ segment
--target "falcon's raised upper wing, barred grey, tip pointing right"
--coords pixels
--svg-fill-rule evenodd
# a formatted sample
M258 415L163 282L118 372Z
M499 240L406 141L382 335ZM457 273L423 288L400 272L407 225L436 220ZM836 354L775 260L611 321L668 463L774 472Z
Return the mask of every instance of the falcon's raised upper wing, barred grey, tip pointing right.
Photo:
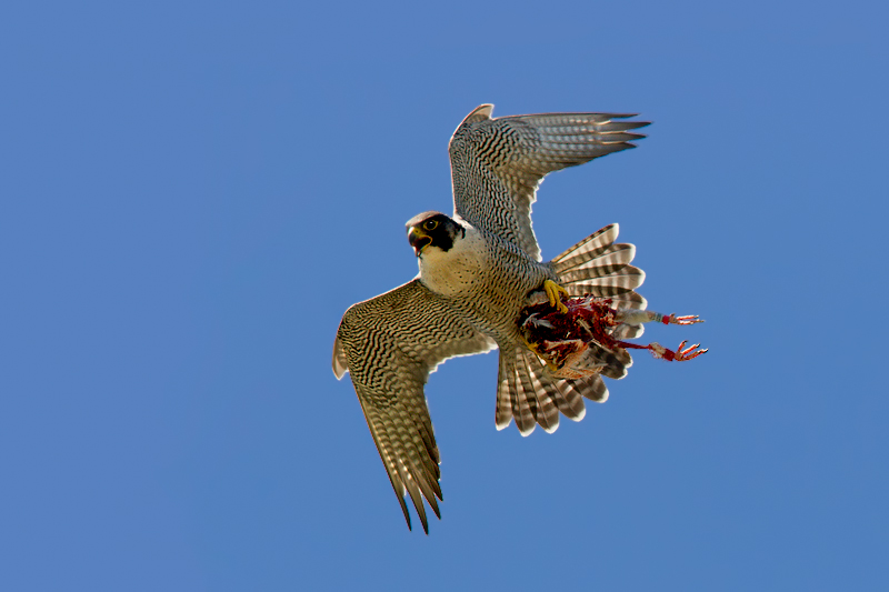
M531 203L547 173L636 148L629 130L647 121L618 113L540 113L491 119L492 104L469 113L449 144L453 209L471 224L540 261Z

